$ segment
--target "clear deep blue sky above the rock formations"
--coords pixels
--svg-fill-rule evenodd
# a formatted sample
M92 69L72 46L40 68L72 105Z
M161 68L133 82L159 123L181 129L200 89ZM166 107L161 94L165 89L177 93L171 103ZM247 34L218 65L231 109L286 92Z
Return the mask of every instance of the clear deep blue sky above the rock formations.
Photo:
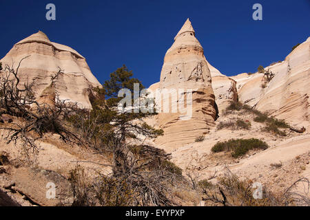
M45 5L56 5L56 21ZM262 4L263 20L252 19ZM85 56L103 83L123 64L145 86L158 82L165 52L187 18L211 65L228 76L282 61L310 36L310 0L0 0L0 57L38 30Z

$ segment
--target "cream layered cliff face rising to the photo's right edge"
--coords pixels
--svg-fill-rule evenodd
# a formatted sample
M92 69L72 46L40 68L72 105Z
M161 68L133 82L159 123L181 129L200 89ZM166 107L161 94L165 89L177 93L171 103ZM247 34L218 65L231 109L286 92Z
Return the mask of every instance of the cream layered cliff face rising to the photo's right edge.
M310 38L296 47L285 61L265 67L275 76L262 87L263 74L233 76L240 102L268 111L298 126L310 129Z

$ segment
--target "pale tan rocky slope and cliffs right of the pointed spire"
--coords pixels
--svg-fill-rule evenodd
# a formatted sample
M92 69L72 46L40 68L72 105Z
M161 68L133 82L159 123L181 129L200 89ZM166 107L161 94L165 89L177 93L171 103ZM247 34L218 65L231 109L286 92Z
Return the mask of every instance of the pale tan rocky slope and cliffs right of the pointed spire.
M275 74L273 79L266 83L266 86L262 86L264 74L257 72L227 77L209 63L207 66L220 118L216 120L214 126L211 126L209 133L205 133L203 142L192 141L189 144L177 142L177 138L184 140L186 135L198 136L199 133L194 130L192 133L182 133L182 135L175 133L173 138L163 140L158 144L158 147L172 153L172 161L183 168L183 173L198 179L209 178L214 172L220 176L228 166L238 176L259 181L270 186L271 190L280 192L301 177L310 178L310 38L296 47L285 58L285 61L265 67L266 70ZM166 76L162 72L161 79L163 77L165 79ZM174 85L178 85L177 79L172 80ZM162 87L161 83L152 85L150 89ZM262 132L262 124L254 122L254 115L246 113L222 114L231 101L237 100L276 118L285 119L291 126L299 128L304 126L306 131L300 134L287 131L289 134L286 137L278 137L268 132ZM216 127L221 122L238 119L251 122L251 129L219 130ZM179 127L181 126L187 126L187 124L179 125ZM177 131L175 128L174 130ZM266 151L250 152L239 159L227 159L227 155L211 153L211 147L214 144L231 138L258 138L267 142L271 147ZM171 142L177 145L171 147ZM277 163L281 164L280 168L271 166L271 164ZM297 186L296 190L309 196L309 190L304 186Z

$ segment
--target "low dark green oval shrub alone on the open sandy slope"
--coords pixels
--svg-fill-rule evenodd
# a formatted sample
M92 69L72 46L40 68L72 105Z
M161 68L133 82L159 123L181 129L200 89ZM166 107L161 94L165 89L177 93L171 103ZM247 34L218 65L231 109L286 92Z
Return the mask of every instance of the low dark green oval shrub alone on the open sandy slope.
M231 139L226 142L218 142L215 144L211 151L214 153L218 153L221 151L232 151L232 157L240 157L245 155L249 150L252 149L262 149L265 150L269 146L262 140L258 140L256 138L251 139Z

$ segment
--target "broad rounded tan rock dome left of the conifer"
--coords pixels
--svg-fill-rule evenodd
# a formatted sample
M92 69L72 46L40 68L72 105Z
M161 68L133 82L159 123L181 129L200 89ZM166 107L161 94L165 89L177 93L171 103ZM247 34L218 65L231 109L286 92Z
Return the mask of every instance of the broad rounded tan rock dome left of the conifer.
M25 58L27 56L29 57ZM1 59L1 63L3 66L14 64L16 69L22 58L25 60L19 69L21 85L36 79L35 91L37 96L40 96L42 91L50 86L50 75L56 74L61 68L65 74L59 77L55 85L59 98L91 108L89 96L92 87L100 87L101 84L81 54L70 47L51 42L43 32L38 32L15 44Z

